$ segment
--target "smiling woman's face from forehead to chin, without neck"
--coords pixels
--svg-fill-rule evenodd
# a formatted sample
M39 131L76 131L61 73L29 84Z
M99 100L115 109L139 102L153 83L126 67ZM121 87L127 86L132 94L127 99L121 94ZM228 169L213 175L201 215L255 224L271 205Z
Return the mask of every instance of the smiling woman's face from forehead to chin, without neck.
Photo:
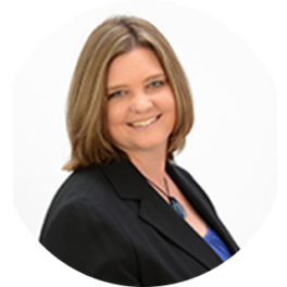
M151 50L136 48L111 62L107 97L108 133L117 148L127 154L165 152L175 124L176 103L164 71ZM129 126L129 123L158 115L161 116L152 126L142 129Z

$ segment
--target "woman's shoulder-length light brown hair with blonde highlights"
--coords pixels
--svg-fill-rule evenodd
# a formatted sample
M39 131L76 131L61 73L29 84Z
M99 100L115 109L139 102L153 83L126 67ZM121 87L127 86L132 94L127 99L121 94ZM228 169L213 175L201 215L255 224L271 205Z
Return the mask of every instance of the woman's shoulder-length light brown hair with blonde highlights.
M191 91L185 72L164 36L148 21L117 15L105 20L88 37L78 58L66 102L71 159L62 170L76 171L128 158L110 139L107 122L107 74L117 55L145 47L158 57L176 102L176 123L169 137L166 160L184 149L194 125Z

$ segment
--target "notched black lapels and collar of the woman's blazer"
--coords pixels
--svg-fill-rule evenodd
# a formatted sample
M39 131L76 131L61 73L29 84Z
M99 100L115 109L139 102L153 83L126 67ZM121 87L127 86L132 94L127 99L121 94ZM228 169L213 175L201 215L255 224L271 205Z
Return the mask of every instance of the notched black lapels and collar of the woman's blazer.
M223 264L220 257L210 248L190 226L180 219L170 204L161 198L137 167L125 158L112 161L101 166L110 184L123 200L140 200L138 216L150 224L159 233L174 242L178 248L189 253L201 262L208 270L214 270ZM236 247L227 230L214 216L211 208L202 201L199 186L185 172L173 163L166 161L166 173L173 178L182 192L189 199L192 207L225 240L230 251L235 254ZM175 228L176 226L176 228Z

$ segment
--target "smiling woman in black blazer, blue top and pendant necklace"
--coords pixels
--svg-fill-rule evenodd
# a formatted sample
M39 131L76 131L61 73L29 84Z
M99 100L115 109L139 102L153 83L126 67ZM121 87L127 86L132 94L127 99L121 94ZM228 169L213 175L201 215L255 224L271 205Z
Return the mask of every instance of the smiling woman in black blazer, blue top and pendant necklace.
M171 286L240 250L191 175L176 165L194 123L185 73L166 39L138 17L89 36L71 84L73 171L39 244L58 261L115 286Z

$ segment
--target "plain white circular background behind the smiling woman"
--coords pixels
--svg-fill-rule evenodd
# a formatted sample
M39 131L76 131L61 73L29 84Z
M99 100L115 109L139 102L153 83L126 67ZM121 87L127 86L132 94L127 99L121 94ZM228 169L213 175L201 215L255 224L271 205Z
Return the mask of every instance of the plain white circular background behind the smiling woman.
M196 117L175 160L208 194L241 249L276 203L286 166L277 161L277 121L284 113L264 59L228 23L184 4L151 3L103 4L53 27L27 54L12 83L5 123L13 123L13 161L9 149L1 148L1 159L10 157L2 171L15 212L35 240L53 196L71 174L61 167L70 155L65 102L77 58L89 34L115 14L151 22L175 50L190 84ZM11 107L13 114L8 115ZM2 137L7 147L10 127Z

